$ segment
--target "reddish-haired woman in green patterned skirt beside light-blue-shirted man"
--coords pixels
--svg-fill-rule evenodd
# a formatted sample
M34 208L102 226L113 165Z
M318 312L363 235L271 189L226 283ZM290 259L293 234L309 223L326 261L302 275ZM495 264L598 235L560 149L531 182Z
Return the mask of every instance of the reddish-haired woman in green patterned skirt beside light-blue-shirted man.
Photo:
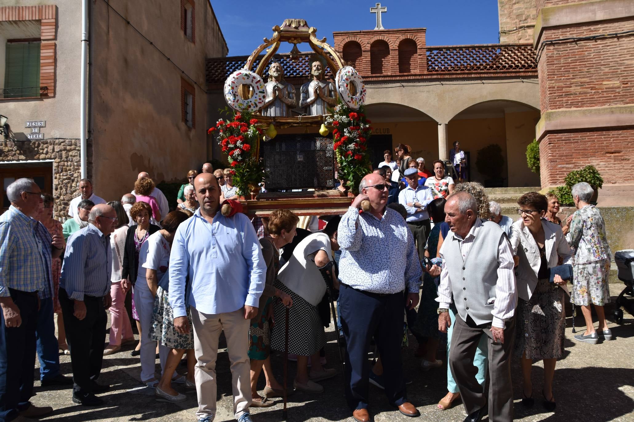
M297 221L299 221L299 218L291 211L288 211L288 209L276 209L268 218L268 235L260 239L262 256L266 262L266 282L259 299L257 315L251 319L249 329L252 407L273 406L275 403L268 399L281 397L283 394L283 388L273 376L271 369L271 327L269 327L269 319L272 316L273 299L275 297L280 298L283 306L290 307L293 304L293 299L291 299L290 295L277 289L273 283L277 279L278 271L280 270L279 250L292 242L296 233ZM286 363L287 361L285 361ZM266 378L264 397L257 394L257 379L262 368L264 368L264 377Z

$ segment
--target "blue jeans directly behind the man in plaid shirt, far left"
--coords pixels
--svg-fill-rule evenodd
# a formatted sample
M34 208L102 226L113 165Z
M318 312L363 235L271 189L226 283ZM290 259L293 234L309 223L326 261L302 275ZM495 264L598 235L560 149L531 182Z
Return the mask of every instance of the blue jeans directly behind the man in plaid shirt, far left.
M40 361L40 380L50 380L60 375L60 355L55 337L55 313L53 299L42 299L37 313L37 359Z

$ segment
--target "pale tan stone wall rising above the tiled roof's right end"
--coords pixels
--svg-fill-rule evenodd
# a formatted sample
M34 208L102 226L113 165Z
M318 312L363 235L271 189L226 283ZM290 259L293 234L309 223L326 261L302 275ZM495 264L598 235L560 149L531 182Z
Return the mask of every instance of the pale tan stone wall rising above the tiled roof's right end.
M537 17L535 1L498 0L500 42L502 44L533 42L535 19ZM540 0L537 1L539 2Z

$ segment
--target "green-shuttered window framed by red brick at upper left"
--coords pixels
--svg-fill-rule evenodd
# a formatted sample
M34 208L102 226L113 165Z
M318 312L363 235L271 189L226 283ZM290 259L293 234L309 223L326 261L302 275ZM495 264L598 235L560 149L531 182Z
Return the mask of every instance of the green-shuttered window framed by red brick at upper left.
M40 42L8 42L4 98L40 96Z

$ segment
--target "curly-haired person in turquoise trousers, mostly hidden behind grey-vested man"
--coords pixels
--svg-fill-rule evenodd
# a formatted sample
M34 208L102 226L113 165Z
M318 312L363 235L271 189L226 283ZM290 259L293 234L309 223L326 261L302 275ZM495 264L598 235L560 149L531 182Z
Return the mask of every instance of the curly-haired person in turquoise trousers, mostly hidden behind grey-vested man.
M465 182L458 183L456 185L455 192L467 192L472 194L477 202L478 209L478 217L484 218L486 220L489 216L489 197L484 190L484 186L477 182ZM441 224L441 233L438 237L438 247L436 249L437 256L440 256L440 248L443 245L443 239L446 237L449 232L449 225L445 222ZM451 334L453 333L453 326L456 320L456 308L454 304L451 304L449 309L449 315L451 317L451 326L447 331L447 359L449 359L449 351L451 347ZM480 342L477 345L477 349L475 351L474 356L474 366L477 368L477 374L475 375L475 379L477 382L482 385L484 388L484 383L486 383L486 371L488 366L488 352L489 347L487 345L486 336L482 336ZM449 365L447 366L447 394L438 402L438 409L446 410L451 407L451 403L453 400L460 397L460 392L458 392L458 385L456 385L455 380L453 379L453 375L451 375L451 370Z

